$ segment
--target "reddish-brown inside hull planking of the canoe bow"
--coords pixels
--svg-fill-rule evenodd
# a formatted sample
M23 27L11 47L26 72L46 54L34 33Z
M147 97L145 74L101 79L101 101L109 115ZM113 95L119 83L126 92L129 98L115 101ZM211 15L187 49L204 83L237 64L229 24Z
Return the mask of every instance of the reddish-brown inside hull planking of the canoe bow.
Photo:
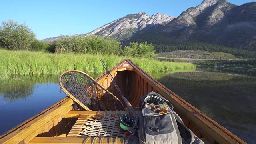
M132 104L133 107L139 107L140 98L149 92L158 92L152 85L150 85L144 78L142 78L139 74L132 70L118 71L114 73L114 79L116 83L120 87L120 90L124 94L124 96L128 99L128 101ZM106 78L106 80L100 83L104 88L109 90L112 94L114 94L119 100L122 100L118 92L115 90L114 85L112 84L110 78ZM196 126L191 120L188 120L182 112L178 111L175 106L174 110L179 114L182 118L184 124L198 136L198 138L206 138L208 142L214 143L215 140L211 138L208 134L200 132L198 126Z

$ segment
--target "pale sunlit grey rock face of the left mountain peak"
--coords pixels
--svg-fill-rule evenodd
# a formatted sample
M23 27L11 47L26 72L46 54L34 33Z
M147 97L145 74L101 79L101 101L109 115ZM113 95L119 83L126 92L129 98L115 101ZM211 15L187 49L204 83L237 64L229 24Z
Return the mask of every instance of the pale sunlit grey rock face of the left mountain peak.
M163 26L173 20L174 16L156 13L149 16L145 12L128 14L127 16L114 20L86 35L100 35L104 37L115 36L120 40L130 38L136 32L142 32L152 27Z

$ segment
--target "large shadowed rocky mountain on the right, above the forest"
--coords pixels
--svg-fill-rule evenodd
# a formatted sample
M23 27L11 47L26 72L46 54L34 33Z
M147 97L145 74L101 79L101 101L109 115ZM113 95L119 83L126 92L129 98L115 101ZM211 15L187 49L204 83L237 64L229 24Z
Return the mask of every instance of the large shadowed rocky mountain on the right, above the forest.
M256 2L236 6L226 0L204 0L155 31L177 40L255 50Z

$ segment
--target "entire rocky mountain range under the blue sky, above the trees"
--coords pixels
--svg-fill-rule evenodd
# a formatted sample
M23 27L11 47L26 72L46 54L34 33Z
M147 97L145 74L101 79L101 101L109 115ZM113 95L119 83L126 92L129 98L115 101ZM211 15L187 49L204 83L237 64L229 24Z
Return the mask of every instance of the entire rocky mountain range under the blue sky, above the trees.
M236 6L227 0L204 0L177 18L160 13L151 16L145 12L128 14L81 36L87 35L116 37L121 41L161 36L177 41L256 50L256 2Z

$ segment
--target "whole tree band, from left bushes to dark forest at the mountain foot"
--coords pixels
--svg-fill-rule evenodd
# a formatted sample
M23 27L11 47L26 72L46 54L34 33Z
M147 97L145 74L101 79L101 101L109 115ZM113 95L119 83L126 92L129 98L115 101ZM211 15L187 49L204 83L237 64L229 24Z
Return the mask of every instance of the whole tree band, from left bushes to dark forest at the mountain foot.
M150 44L149 44L150 43ZM45 52L79 54L115 54L132 57L155 57L155 52L174 50L206 50L226 52L244 58L256 58L256 51L230 48L203 42L173 40L165 36L142 35L128 41L101 36L69 36L51 42L38 40L34 32L25 24L13 20L4 21L0 26L0 47L8 50L32 50Z

